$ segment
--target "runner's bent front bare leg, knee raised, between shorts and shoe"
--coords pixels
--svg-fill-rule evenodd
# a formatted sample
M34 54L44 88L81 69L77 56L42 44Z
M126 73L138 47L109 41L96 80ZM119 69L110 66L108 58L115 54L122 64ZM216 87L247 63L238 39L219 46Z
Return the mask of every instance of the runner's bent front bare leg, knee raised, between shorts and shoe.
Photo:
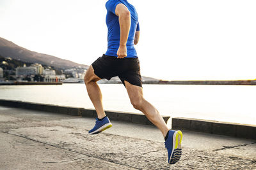
M98 118L103 118L106 116L106 114L103 110L102 94L99 85L97 84L97 81L99 80L100 78L96 74L94 74L93 67L90 66L86 72L86 75L84 76L84 83L86 85L88 95L97 112Z

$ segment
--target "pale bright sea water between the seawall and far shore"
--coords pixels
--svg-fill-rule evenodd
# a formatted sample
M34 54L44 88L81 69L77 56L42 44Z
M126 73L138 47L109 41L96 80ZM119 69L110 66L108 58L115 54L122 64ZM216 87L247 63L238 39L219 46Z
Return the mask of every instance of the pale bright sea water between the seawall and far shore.
M135 110L124 85L99 84L105 110ZM256 86L143 85L161 115L256 125ZM84 84L1 85L0 99L93 108Z

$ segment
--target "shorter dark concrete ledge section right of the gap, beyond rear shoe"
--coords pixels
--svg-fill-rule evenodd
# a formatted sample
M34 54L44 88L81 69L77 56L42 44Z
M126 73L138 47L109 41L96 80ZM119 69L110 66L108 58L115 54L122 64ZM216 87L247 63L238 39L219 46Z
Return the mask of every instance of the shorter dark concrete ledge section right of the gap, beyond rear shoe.
M256 125L233 124L194 118L172 118L172 128L256 139Z

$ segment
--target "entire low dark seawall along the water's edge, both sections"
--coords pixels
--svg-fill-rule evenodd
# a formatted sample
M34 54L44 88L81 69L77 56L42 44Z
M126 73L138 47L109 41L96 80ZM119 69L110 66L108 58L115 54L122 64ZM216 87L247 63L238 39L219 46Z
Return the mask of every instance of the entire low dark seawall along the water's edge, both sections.
M84 108L57 106L52 104L29 103L23 101L12 101L0 99L0 105L12 108L24 108L29 110L47 111L79 117L97 117L95 110ZM121 111L105 111L111 120L131 122L135 124L153 125L145 115ZM167 123L170 117L163 116ZM210 134L221 134L237 138L256 139L256 125L234 124L229 122L218 122L213 120L200 120L195 118L172 118L172 129L205 132Z

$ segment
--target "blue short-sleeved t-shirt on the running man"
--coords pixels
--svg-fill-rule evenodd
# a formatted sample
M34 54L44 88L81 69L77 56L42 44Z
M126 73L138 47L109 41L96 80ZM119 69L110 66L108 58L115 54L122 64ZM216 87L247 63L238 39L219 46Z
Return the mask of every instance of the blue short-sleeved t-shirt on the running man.
M106 16L106 24L108 26L108 50L105 54L117 57L116 53L120 44L120 25L118 16L115 15L115 10L116 5L120 3L124 4L131 13L131 28L127 39L126 47L127 57L135 58L138 56L134 48L134 36L136 31L140 31L140 25L138 23L138 13L136 9L134 8L134 6L129 4L127 0L109 0L106 3L106 8L108 11Z

